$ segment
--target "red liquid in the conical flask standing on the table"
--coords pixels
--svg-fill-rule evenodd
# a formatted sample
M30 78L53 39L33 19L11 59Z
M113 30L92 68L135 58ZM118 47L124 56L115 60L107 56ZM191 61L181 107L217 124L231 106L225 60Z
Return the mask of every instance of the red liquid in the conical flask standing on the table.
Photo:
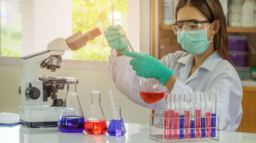
M104 134L108 131L108 125L103 120L88 120L84 125L84 131L88 134Z

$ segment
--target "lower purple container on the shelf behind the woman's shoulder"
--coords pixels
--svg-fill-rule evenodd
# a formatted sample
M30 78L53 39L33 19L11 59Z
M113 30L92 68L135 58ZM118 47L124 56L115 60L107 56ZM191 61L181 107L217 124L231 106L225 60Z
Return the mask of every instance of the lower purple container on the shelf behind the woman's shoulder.
M248 66L248 52L245 51L229 51L229 58L237 67Z

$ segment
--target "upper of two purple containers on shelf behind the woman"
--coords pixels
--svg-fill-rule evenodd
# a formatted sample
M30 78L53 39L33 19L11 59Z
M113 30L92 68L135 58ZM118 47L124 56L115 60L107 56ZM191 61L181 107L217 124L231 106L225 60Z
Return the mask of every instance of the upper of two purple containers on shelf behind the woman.
M246 36L228 36L228 47L230 51L248 51Z

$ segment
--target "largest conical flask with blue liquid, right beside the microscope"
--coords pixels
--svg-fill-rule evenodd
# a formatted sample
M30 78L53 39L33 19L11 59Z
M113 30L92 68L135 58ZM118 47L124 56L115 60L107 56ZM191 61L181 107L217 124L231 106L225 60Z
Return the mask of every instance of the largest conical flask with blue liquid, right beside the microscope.
M83 131L85 121L76 94L76 82L77 79L67 79L67 95L58 121L58 129L61 132Z

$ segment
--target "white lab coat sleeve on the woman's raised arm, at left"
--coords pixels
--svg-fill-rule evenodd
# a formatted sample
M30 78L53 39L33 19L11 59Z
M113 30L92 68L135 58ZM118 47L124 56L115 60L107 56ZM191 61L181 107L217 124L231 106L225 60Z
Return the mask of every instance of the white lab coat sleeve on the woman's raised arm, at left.
M131 58L124 55L116 56L116 51L112 49L107 65L107 71L111 80L118 91L132 102L146 108L156 109L156 103L146 104L141 99L139 91L140 77L132 70L132 66L129 64L130 60Z

